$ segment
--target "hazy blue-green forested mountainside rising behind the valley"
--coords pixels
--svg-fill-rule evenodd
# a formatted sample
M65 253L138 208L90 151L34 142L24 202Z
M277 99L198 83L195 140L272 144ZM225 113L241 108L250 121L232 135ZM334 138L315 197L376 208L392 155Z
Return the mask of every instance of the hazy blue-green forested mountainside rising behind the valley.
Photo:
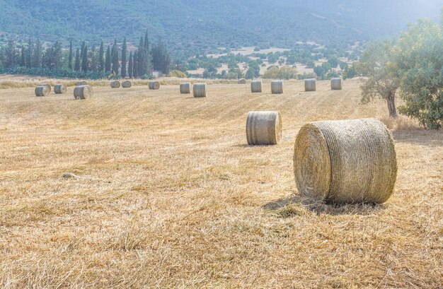
M392 35L408 21L438 18L441 0L0 0L0 41L111 41L134 44L144 30L173 54L219 46L290 47L312 40L345 47Z

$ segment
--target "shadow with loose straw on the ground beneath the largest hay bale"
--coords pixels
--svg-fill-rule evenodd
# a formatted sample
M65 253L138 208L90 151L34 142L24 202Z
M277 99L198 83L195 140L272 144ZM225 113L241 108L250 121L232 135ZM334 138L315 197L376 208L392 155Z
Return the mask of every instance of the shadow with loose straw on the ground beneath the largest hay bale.
M292 194L287 198L271 201L263 206L267 211L277 213L282 218L290 216L304 216L311 212L316 215L328 214L331 216L360 215L367 216L385 209L381 204L328 204L318 199Z

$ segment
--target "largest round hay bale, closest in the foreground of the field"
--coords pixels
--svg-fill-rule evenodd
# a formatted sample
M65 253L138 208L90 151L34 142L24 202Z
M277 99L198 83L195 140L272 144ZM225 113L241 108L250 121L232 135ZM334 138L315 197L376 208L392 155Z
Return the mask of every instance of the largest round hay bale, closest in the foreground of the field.
M294 145L300 194L331 203L384 203L397 177L391 132L376 119L312 122Z

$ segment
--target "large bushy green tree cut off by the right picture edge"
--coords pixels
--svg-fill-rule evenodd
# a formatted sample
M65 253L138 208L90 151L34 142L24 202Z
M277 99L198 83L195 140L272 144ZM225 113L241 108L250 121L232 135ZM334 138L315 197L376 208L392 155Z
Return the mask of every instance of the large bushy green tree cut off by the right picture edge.
M408 25L393 48L389 71L400 83L399 112L422 126L443 124L443 28L432 20Z

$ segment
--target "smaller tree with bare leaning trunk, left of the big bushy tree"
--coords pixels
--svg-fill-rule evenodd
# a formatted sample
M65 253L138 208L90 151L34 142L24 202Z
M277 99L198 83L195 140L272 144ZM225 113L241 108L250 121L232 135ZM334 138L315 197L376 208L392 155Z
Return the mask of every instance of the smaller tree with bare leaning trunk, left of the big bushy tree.
M388 70L392 57L392 40L379 40L367 45L357 63L357 73L362 78L362 102L367 103L376 97L386 100L390 117L397 117L395 105L398 78Z

